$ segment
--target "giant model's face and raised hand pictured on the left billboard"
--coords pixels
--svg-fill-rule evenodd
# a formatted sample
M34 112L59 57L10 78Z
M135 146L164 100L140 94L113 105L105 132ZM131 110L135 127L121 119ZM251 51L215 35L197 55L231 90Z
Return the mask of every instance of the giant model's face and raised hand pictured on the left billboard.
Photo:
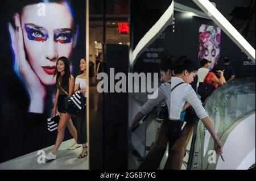
M28 112L43 113L46 86L55 85L57 58L68 57L76 46L79 27L68 2L24 5L8 23L14 70L30 98Z

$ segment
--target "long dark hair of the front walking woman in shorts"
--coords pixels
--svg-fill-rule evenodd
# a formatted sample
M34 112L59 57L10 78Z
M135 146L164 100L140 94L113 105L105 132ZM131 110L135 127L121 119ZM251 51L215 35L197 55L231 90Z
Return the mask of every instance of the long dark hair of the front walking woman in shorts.
M69 69L69 61L67 57L60 57L57 62L56 62L56 68L55 68L55 72L53 75L53 78L55 77L55 75L57 75L56 77L56 84L59 83L59 78L60 78L60 72L57 70L57 63L59 61L63 61L65 68L64 68L64 75L61 81L61 87L66 87L69 85L69 78L71 77L71 73L70 73L70 69Z

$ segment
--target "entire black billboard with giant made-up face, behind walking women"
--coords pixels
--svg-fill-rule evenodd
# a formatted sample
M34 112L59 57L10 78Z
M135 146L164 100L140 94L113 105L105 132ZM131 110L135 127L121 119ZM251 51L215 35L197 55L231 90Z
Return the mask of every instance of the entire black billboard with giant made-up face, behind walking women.
M75 77L79 74L80 58L85 56L85 1L10 0L5 1L5 7L8 10L3 10L1 24L6 26L1 29L6 30L2 34L2 40L6 42L3 44L5 47L1 47L5 50L1 53L1 59L5 60L3 66L7 69L1 82L1 94L3 101L9 103L1 111L4 125L1 134L11 127L14 129L10 131L17 137L29 129L37 129L36 135L31 134L31 137L40 134L48 138L50 133L42 127L47 125L46 119L51 117L55 100L56 76L53 78L53 74L56 61L61 56L68 57ZM15 91L10 93L10 89ZM13 115L10 116L10 113ZM18 122L30 124L15 132ZM28 140L25 138L23 141ZM52 144L51 138L43 141L43 145L50 142ZM31 150L43 146L40 140L35 145ZM30 150L23 149L23 152Z

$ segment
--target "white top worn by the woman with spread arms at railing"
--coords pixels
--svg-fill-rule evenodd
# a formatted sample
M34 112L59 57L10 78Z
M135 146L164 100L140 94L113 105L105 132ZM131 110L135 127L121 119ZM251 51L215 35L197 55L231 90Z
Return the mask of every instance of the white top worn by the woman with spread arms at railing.
M188 83L183 83L177 86L172 92L171 89L176 86L180 82L184 82L183 79L178 77L172 77L171 80L168 82L170 83L162 83L162 85L155 91L154 95L156 96L155 99L148 99L147 102L142 106L140 112L144 115L150 113L150 111L155 107L157 103L161 100L166 100L168 111L169 111L169 118L179 120L180 119L180 112L185 104L188 102L196 111L196 115L203 119L207 117L207 112L205 111L204 107L202 106L200 100L197 98L196 92L193 90L191 85Z

